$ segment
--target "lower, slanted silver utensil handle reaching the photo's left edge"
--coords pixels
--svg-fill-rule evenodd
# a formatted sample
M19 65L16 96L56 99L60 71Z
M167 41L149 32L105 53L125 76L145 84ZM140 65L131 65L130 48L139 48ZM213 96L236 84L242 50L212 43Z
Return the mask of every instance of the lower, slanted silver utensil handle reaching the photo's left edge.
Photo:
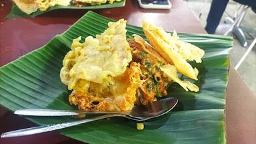
M46 125L46 126L39 126L39 127L31 127L31 128L27 128L27 129L19 129L16 131L9 131L7 133L2 133L1 138L4 137L20 137L20 136L24 136L24 135L33 135L36 133L44 133L47 131L54 131L57 129L63 129L66 127L72 127L74 125L80 125L82 123L88 123L91 121L96 121L99 119L105 119L107 117L117 117L120 116L118 114L112 114L112 115L101 115L99 117L93 117L91 119L81 119L79 121L71 121L71 122L67 122L67 123L59 123L56 125Z

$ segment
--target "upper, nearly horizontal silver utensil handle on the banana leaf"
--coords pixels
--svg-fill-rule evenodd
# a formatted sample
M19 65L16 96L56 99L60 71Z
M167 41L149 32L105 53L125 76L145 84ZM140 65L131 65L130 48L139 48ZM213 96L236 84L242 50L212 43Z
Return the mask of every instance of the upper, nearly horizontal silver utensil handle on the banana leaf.
M121 112L109 111L79 111L79 110L55 110L55 109L19 109L14 112L17 115L31 115L31 116L68 116L81 114L115 114Z

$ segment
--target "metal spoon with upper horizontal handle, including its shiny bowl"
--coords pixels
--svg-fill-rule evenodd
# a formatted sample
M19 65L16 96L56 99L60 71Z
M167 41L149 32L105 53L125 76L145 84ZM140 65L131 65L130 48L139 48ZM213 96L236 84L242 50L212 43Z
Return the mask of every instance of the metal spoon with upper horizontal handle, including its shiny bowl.
M55 110L55 109L19 109L14 113L17 115L30 116L69 116L81 114L120 114L133 117L135 119L145 119L147 117L160 116L175 107L178 99L169 97L154 101L149 105L135 105L131 111L83 111L83 110Z

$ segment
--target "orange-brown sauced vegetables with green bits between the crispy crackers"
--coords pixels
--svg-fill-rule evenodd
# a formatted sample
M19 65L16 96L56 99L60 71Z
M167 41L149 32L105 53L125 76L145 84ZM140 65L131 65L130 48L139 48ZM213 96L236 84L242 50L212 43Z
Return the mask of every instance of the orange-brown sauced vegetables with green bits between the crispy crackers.
M151 47L145 43L142 37L134 35L135 40L128 40L132 48L133 61L141 65L141 80L143 83L137 90L138 103L147 105L157 101L157 97L167 95L167 85L170 80L161 71L161 65L167 64L167 61Z

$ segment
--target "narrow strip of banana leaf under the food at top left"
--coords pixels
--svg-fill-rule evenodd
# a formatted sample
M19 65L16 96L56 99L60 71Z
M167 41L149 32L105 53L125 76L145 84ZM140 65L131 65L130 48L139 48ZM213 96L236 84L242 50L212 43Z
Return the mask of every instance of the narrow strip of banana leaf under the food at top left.
M35 11L34 13L31 13L30 15L27 15L27 13L24 13L13 3L13 7L11 8L11 12L6 16L6 18L13 18L13 17L36 17L38 15L41 15L43 13L47 13L48 11L52 11L55 9L109 9L114 7L124 7L125 6L125 0L115 2L113 4L104 4L104 5L91 5L91 6L85 6L85 7L75 7L74 5L69 6L62 6L62 5L56 5L54 7L49 7L46 11L40 11L39 9Z

